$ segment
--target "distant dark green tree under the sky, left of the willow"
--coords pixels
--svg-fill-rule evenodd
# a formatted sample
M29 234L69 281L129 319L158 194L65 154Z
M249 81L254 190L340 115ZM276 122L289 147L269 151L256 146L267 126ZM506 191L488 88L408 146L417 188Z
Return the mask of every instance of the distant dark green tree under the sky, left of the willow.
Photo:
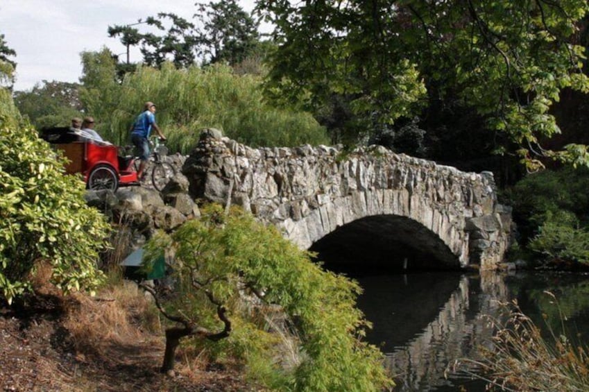
M74 117L83 117L77 83L48 82L30 92L15 92L17 108L37 128L69 126Z

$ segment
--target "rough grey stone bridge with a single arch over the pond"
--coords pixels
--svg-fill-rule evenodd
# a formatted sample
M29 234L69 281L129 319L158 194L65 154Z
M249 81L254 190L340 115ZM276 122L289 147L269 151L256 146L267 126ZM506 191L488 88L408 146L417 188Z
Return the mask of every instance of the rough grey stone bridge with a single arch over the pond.
M250 148L205 130L182 173L193 198L240 205L326 261L495 269L509 246L493 173L382 146Z

